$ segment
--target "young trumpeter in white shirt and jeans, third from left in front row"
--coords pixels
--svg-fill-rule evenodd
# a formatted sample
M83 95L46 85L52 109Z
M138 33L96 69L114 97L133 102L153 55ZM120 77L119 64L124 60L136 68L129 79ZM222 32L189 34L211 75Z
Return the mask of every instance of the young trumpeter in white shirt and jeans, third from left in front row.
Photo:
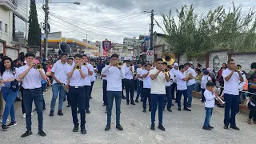
M107 124L105 130L110 130L114 98L116 106L116 128L118 130L123 130L120 125L120 113L122 101L122 78L125 77L125 74L124 71L121 70L121 67L117 65L118 54L112 54L110 62L110 66L106 66L106 69L102 70L102 73L107 75Z

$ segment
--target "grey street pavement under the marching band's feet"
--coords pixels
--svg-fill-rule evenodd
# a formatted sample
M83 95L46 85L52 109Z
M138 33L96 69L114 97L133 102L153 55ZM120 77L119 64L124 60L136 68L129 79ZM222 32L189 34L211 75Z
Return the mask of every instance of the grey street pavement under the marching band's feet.
M136 93L135 93L136 94ZM135 95L134 94L134 95ZM214 130L202 130L205 118L204 107L198 98L193 99L191 112L178 111L177 105L172 107L173 112L167 110L163 115L163 126L166 131L150 130L150 112L142 113L142 102L136 106L126 105L126 100L122 100L121 125L124 130L115 128L115 108L112 110L112 123L110 131L105 131L106 107L102 106L102 80L97 79L94 84L92 99L90 99L90 114L86 114L87 134L82 135L72 132L73 122L70 108L64 102L63 116L58 116L57 106L54 117L50 117L51 89L46 91L46 111L44 111L44 131L47 136L42 138L38 133L37 114L32 116L33 135L21 138L21 134L26 131L26 120L22 118L22 110L16 110L17 126L11 127L7 132L0 131L0 144L24 143L24 144L71 144L71 143L120 143L120 144L140 144L140 143L255 143L256 125L246 123L247 115L237 115L237 126L241 130L224 130L223 114L224 109L215 107L210 125ZM176 103L175 103L176 104ZM79 118L78 118L79 119ZM156 126L158 126L158 115L156 116Z

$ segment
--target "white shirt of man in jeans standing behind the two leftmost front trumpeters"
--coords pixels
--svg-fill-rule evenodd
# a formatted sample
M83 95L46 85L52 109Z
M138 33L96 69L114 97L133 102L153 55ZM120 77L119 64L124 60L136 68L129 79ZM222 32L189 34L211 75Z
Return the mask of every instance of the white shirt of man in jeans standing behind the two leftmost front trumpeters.
M62 83L67 84L67 72L70 69L68 63L62 64L61 61L54 63L54 66L51 69L51 72L54 72L55 77ZM57 83L54 79L53 84Z

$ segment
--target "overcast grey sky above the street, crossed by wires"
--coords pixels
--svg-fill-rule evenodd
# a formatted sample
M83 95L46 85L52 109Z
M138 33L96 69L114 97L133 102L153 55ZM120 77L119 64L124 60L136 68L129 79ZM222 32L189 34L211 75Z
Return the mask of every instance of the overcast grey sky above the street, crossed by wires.
M62 31L67 38L102 41L105 38L122 43L124 37L137 37L149 34L150 12L154 9L154 17L162 25L161 14L169 10L180 10L182 5L194 5L195 12L202 14L214 10L217 6L232 6L231 0L51 0L51 2L81 2L81 5L50 4L51 32ZM244 12L250 6L256 6L256 0L233 0L236 6L241 5ZM44 0L37 0L38 7ZM62 17L59 17L62 16ZM57 18L56 18L57 17ZM44 14L38 9L39 22L43 22ZM62 20L63 19L64 22ZM154 31L162 30L154 25Z

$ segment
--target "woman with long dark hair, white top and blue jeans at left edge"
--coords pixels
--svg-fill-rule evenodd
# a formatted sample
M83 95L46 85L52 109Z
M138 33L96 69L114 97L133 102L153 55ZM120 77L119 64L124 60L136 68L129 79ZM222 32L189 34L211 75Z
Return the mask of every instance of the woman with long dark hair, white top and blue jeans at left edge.
M0 83L2 83L2 97L6 102L6 106L2 117L2 130L6 131L11 126L16 126L14 100L18 95L18 82L22 80L18 78L18 71L14 68L14 62L11 58L2 58L0 62ZM7 118L10 114L11 122L6 126Z

